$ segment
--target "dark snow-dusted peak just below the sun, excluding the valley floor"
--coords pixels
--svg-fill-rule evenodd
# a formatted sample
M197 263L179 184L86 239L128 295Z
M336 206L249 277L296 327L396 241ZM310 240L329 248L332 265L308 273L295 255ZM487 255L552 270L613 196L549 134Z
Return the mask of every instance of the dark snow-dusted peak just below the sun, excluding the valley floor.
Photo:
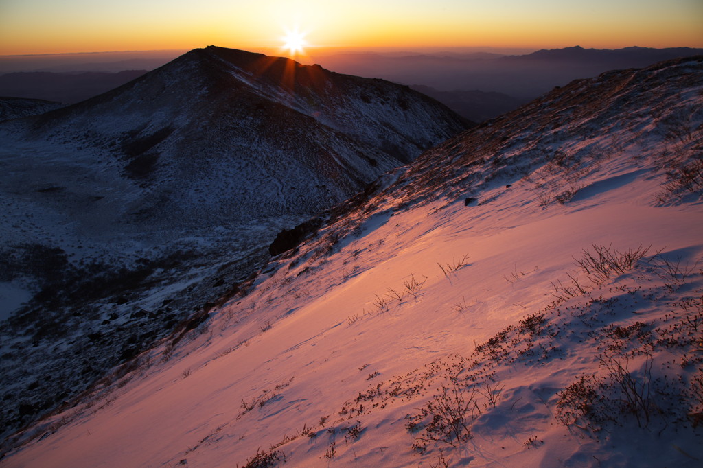
M210 46L44 115L17 139L122 176L120 195L138 200L120 221L187 226L314 212L461 129L402 86Z

